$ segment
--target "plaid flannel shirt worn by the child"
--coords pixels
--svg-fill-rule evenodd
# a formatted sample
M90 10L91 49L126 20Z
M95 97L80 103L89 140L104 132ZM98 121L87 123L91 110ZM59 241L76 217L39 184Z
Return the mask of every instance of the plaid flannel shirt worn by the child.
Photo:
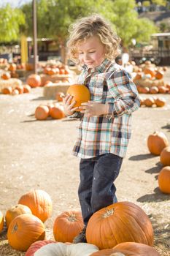
M79 83L90 90L90 100L109 105L107 116L83 116L73 154L81 158L112 153L125 157L131 138L131 113L139 108L139 94L128 72L105 59L88 72L83 67Z

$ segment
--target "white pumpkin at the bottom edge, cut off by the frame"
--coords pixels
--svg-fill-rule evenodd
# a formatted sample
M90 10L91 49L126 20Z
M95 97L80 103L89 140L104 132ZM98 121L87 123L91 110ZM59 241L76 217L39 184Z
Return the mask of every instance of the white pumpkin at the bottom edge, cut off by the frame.
M90 256L93 252L97 252L98 247L93 244L47 244L38 249L34 256Z

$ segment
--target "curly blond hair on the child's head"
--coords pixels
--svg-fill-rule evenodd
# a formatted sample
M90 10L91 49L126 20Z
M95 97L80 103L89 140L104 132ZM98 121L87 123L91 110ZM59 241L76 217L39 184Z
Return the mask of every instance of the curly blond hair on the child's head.
M69 27L67 41L69 59L78 63L77 44L92 36L98 36L105 46L105 58L112 60L120 53L120 38L112 26L100 15L90 15L76 20Z

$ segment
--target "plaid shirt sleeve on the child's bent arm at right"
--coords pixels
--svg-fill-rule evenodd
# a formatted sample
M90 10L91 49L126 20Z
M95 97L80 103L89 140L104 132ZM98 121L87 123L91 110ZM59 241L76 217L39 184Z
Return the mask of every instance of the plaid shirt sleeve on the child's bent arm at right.
M131 114L139 108L139 94L128 72L123 69L113 72L107 80L107 86L114 98L113 102L107 102L108 118L121 116L124 113Z

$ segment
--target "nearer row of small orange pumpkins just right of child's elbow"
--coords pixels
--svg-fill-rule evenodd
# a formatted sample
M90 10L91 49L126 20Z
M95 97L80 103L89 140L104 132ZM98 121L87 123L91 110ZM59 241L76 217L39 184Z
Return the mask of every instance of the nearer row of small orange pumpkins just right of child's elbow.
M166 99L164 97L140 97L140 105L145 107L164 107L166 105Z

